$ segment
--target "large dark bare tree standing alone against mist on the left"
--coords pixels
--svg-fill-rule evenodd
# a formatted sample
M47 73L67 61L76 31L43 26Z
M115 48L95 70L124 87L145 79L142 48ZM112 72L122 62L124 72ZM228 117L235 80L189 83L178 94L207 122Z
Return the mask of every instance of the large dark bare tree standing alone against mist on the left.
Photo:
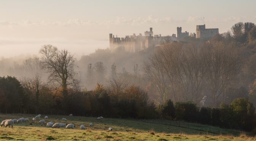
M67 86L77 85L74 78L75 58L67 50L58 50L53 45L43 45L41 66L49 72L50 82L56 82L62 88L62 94L67 94Z

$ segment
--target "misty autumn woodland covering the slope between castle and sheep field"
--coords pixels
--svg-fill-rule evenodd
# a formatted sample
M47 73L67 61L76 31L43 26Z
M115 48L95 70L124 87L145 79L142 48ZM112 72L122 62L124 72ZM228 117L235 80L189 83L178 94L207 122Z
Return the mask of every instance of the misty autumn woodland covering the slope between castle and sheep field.
M0 60L0 112L170 119L256 132L256 26L75 58L43 45ZM232 119L232 120L227 120Z

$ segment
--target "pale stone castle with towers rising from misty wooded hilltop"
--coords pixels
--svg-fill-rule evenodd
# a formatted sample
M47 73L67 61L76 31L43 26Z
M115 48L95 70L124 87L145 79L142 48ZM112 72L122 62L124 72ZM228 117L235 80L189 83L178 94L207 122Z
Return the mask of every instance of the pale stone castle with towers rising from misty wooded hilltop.
M116 50L117 48L122 48L128 52L138 52L149 47L155 47L173 41L182 41L188 36L192 36L194 38L209 39L216 34L219 34L218 28L206 29L205 25L197 25L196 33L190 35L187 31L182 33L182 28L177 27L177 37L176 34L172 34L172 36L161 36L161 34L153 36L153 28L149 28L149 31L145 31L144 36L142 36L142 34L137 36L136 34L133 34L130 36L125 36L125 38L119 38L110 33L109 48L112 51Z

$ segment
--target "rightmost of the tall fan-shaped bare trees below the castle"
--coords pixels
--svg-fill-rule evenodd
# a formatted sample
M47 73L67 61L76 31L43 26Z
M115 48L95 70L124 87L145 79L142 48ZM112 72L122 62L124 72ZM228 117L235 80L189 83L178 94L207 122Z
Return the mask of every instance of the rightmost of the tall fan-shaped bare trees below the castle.
M234 77L242 65L241 55L231 45L215 42L205 46L206 81L211 90L211 105L216 106L216 100L225 91L228 82Z

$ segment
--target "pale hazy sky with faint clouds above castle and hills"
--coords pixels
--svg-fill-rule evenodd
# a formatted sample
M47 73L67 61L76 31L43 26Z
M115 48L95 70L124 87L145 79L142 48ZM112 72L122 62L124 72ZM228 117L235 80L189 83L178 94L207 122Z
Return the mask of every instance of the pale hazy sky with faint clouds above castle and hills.
M38 54L44 44L78 57L109 47L118 37L153 28L154 34L223 33L237 22L256 23L256 0L1 0L0 57Z

